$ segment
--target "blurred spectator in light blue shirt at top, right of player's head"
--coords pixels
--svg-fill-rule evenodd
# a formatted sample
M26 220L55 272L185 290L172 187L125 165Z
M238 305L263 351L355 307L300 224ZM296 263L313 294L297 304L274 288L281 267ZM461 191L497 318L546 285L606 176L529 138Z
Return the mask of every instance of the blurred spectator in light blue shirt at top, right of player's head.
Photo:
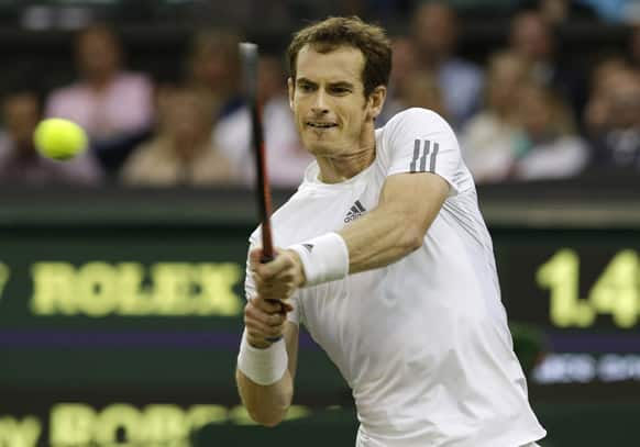
M412 33L420 68L435 75L450 122L461 127L478 110L483 72L453 56L457 40L455 12L443 1L422 3L413 14Z

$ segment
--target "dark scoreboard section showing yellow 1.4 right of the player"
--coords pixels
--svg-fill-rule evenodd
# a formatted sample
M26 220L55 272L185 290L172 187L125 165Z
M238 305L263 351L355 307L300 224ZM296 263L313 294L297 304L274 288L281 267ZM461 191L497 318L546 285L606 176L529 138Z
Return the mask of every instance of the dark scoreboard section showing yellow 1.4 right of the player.
M519 242L495 233L509 317L534 325L547 350L533 394L618 400L637 390L640 232L528 231Z

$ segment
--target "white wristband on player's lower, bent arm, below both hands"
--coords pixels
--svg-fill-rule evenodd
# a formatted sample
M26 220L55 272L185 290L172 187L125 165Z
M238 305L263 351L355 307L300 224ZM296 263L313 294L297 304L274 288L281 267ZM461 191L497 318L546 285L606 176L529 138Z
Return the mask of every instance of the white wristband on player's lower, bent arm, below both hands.
M238 369L257 384L274 384L285 376L289 357L285 340L279 339L268 348L254 348L246 340L246 331L242 334Z

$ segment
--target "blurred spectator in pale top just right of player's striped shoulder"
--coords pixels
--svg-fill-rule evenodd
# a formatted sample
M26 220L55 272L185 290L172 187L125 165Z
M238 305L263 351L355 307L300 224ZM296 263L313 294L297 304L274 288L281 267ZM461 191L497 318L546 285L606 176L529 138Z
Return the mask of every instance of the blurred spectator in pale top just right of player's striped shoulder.
M498 53L489 60L486 105L461 135L464 158L478 183L501 181L510 174L517 156L518 94L529 76L528 60L514 53Z

